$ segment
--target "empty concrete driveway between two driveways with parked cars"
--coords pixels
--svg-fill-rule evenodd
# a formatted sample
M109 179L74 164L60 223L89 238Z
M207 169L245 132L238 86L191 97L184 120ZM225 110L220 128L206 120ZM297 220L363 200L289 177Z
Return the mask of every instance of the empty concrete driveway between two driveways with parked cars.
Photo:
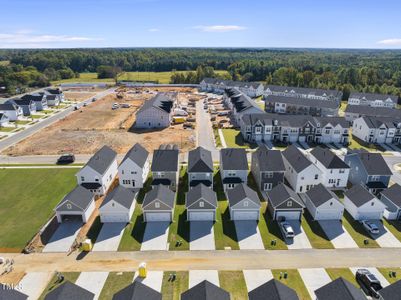
M354 239L339 220L318 221L334 248L358 248Z

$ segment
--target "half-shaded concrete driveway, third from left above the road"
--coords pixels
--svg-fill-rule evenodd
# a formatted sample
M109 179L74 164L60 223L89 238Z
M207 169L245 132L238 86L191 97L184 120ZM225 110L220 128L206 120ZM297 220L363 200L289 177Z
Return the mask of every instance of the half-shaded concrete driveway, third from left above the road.
M145 227L141 251L167 250L170 222L148 222Z

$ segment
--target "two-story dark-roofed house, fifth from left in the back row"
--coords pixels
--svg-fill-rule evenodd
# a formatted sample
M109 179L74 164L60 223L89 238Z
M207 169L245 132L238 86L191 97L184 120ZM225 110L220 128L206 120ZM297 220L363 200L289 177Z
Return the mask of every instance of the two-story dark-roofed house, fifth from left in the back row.
M224 191L248 182L248 159L242 148L220 150L220 176Z

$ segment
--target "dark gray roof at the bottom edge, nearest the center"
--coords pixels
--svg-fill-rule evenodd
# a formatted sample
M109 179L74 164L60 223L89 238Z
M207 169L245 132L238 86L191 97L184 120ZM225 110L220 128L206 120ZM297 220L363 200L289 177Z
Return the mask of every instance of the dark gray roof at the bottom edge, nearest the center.
M204 280L181 294L181 300L230 300L230 294Z

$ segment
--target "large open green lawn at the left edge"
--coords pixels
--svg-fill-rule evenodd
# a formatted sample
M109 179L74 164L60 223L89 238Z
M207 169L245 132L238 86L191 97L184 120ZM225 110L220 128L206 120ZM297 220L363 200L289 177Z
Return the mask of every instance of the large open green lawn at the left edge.
M0 248L21 251L76 185L76 169L2 169Z

